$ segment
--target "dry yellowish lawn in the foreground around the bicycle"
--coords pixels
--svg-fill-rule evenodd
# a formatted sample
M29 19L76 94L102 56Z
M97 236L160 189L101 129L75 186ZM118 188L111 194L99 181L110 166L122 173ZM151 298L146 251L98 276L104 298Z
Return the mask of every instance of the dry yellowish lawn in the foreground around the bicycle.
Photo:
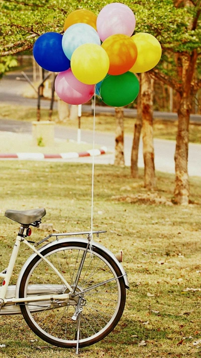
M4 217L8 208L45 207L43 222L59 232L90 229L90 165L0 162L0 166L2 268L7 267L18 231L18 224ZM200 292L183 290L200 288L201 179L190 178L192 204L186 207L167 205L173 175L157 173L157 195L167 200L164 204L151 204L142 175L134 180L129 168L95 166L93 229L107 230L96 240L114 253L123 249L130 291L118 326L103 341L83 348L82 358L200 356L200 344L193 345L201 339ZM131 194L138 195L135 203L127 200ZM36 229L32 239L46 235ZM29 254L22 245L14 279ZM48 347L20 315L1 316L0 337L0 344L6 344L0 348L2 358L75 356L74 350ZM146 345L139 345L142 340Z

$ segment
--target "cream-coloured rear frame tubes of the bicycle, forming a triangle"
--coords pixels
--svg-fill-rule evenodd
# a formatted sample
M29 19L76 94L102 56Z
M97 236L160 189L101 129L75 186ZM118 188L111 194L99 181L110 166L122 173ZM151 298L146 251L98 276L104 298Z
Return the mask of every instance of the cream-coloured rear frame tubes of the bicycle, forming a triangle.
M36 302L36 301L52 301L52 300L58 300L58 299L60 299L60 300L68 299L69 294L41 295L40 297L35 295L35 296L29 296L26 298L25 297L24 298L13 297L13 298L8 298L8 299L6 298L7 290L9 287L9 283L10 283L13 269L14 269L14 266L16 263L16 259L18 256L21 242L25 243L30 249L32 249L37 255L39 255L42 258L42 260L44 262L46 262L47 265L49 267L51 267L52 270L59 276L61 281L64 283L65 287L69 290L69 292L73 292L73 289L70 287L70 285L65 280L65 278L61 275L61 273L54 267L54 265L48 259L46 259L43 255L41 255L41 253L33 245L31 245L25 238L22 238L21 236L18 235L16 238L16 242L14 244L13 252L11 254L11 258L9 261L9 266L7 268L7 271L6 271L6 273L4 273L4 272L0 273L0 277L4 278L2 288L0 291L0 303L1 303L0 307L2 307L3 305L6 305L6 304L16 304L16 303L21 303L21 302L25 302L25 301L26 302Z

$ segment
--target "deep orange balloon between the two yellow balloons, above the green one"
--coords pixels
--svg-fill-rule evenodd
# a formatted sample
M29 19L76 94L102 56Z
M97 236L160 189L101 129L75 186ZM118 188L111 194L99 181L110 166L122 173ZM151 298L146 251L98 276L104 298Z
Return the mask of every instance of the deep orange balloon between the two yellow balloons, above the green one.
M102 47L110 59L108 73L113 76L125 74L134 65L138 50L135 42L127 35L117 34L109 36Z

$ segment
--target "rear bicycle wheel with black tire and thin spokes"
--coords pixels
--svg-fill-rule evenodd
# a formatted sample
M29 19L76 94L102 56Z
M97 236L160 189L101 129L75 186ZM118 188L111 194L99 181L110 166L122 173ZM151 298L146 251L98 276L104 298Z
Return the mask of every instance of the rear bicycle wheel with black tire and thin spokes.
M76 269L85 250L86 243L83 242L58 242L44 248L41 254L62 272L73 287ZM77 288L86 300L81 313L79 347L103 339L119 322L126 302L125 282L121 275L120 268L106 252L95 246L92 246L92 251L87 250ZM115 279L82 294L82 291L90 289L91 285L111 278ZM22 276L19 297L27 297L32 285L35 284L41 287L41 292L50 289L57 294L63 293L65 288L63 283L58 283L58 279L60 278L55 276L53 270L37 255ZM47 309L47 302L44 302L40 304L38 311L33 312L33 304L27 304L25 301L21 304L21 311L32 331L44 341L64 348L76 347L77 323L71 319L76 305L63 305L60 308L56 306Z

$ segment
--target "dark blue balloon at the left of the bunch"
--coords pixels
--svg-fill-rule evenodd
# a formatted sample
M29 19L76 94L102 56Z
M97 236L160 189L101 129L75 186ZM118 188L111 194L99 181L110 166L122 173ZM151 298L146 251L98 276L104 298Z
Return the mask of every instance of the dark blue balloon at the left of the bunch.
M57 32L46 32L41 35L33 47L36 62L52 72L65 71L70 67L70 61L62 49L62 35Z

